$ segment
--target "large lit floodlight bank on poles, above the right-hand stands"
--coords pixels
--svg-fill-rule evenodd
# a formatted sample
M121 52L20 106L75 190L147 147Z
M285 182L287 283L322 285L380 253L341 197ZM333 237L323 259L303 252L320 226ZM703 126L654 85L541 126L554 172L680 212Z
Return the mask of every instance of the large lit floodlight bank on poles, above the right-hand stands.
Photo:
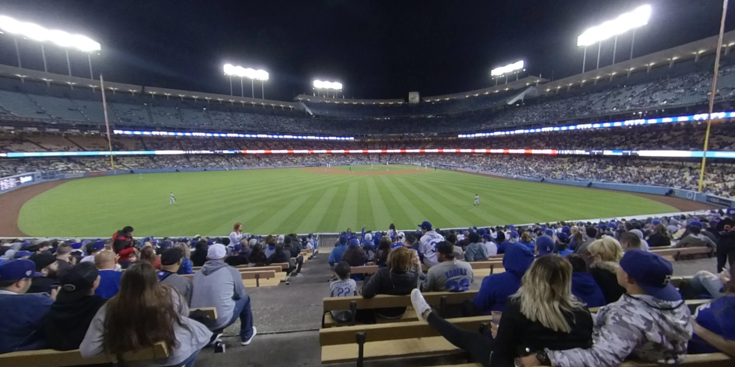
M610 37L615 37L615 43L612 48L612 63L615 63L615 51L617 51L617 36L633 31L633 37L631 38L631 59L633 58L633 46L636 42L636 29L648 24L650 18L651 7L650 5L643 5L637 7L631 12L625 12L613 19L612 21L606 21L599 26L593 26L587 29L584 33L577 37L577 46L584 46L584 57L582 58L582 73L584 73L585 64L587 62L587 47L592 46L595 43L598 44L598 62L597 68L600 68L600 49L602 48L602 41L607 40Z

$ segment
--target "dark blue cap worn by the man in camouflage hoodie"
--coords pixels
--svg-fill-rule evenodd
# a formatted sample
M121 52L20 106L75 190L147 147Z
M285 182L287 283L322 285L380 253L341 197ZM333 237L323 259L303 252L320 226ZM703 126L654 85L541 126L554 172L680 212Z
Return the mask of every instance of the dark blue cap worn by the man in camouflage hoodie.
M681 294L670 283L673 267L661 255L643 250L628 250L620 267L648 294L664 301L679 301Z

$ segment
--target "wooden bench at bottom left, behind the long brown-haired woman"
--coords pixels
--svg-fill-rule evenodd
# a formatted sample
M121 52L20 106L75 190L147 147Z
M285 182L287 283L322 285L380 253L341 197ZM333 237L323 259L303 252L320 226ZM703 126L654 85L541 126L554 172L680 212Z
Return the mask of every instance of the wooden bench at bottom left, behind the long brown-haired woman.
M123 355L127 362L143 360L160 360L168 357L168 350L164 343L158 343L151 348L128 352ZM92 358L83 358L79 349L59 351L54 349L28 350L10 352L0 355L0 366L7 367L65 367L85 366L104 363L115 363L114 355L98 355Z

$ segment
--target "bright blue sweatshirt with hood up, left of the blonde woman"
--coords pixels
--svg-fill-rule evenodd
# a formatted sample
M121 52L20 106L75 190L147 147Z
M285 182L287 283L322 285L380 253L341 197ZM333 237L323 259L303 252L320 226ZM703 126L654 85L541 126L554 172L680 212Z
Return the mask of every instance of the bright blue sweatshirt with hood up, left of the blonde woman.
M473 300L475 306L484 313L502 311L506 299L520 288L520 278L533 261L534 254L522 244L507 247L503 255L505 272L490 275L482 280L480 290Z

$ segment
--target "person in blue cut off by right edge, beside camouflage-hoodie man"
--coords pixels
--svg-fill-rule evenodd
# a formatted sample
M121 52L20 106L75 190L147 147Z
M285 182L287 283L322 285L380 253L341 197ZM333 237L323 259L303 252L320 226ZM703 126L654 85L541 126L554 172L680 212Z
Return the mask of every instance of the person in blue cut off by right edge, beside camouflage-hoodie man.
M714 280L717 276L711 275ZM735 267L721 277L725 278L723 294L695 312L694 335L689 341L689 353L724 352L735 355Z

